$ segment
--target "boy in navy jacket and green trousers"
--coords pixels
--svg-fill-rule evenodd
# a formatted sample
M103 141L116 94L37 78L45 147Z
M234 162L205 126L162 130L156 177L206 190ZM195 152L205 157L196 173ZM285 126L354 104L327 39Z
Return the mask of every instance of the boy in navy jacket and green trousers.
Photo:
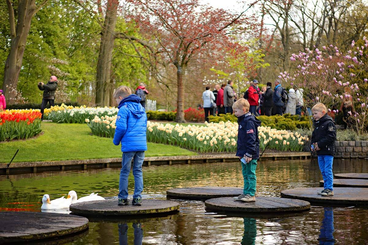
M257 160L259 158L258 126L261 121L249 111L249 102L244 98L233 104L234 114L238 117L238 141L236 155L241 159L244 178L243 194L234 197L236 201L254 202Z

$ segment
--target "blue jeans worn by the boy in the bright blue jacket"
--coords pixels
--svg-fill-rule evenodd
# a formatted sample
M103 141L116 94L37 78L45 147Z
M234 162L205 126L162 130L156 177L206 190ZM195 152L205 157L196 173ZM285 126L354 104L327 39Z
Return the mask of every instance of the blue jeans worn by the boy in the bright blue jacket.
M134 194L133 198L142 198L143 191L143 173L142 164L144 160L144 151L128 151L123 153L121 160L119 194L118 198L128 198L128 176L132 166L133 159L133 176L134 176Z

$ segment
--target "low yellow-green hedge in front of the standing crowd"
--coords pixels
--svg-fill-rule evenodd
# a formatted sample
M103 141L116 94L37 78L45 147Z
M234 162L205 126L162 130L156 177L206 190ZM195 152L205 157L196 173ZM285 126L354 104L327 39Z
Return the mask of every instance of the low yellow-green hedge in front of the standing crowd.
M218 122L237 122L238 118L230 113L220 114L219 116L209 116L209 121ZM279 130L296 130L296 129L309 129L310 124L307 116L284 114L282 116L258 116L261 121L261 126L271 127Z

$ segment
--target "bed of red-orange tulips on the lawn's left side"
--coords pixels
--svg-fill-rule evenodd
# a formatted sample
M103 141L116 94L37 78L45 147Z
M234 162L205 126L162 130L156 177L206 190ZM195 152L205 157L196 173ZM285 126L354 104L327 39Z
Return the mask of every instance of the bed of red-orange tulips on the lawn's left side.
M39 110L0 111L0 141L26 139L41 132Z

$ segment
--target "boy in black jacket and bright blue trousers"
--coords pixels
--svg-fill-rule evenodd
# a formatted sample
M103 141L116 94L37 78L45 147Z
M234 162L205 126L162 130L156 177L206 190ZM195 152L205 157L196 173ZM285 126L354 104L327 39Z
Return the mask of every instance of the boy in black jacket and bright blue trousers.
M336 150L336 127L333 119L326 112L327 108L322 103L312 107L315 128L311 138L311 149L317 151L319 169L325 182L323 191L318 191L317 194L333 196L332 163Z

